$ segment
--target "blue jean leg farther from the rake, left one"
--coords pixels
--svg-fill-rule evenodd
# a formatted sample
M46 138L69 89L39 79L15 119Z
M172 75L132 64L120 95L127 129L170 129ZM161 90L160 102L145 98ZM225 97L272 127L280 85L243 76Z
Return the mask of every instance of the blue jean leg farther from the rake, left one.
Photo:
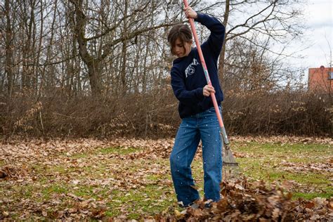
M191 163L200 142L200 133L194 117L183 118L170 155L171 176L178 202L184 206L200 199L199 192L192 188Z

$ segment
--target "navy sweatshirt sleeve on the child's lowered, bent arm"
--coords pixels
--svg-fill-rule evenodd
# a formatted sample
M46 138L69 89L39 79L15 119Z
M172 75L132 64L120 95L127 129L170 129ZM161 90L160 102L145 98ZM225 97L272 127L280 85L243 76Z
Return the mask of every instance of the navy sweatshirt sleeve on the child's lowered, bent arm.
M171 86L176 98L185 105L196 105L204 99L203 88L186 90L184 79L176 69L171 69Z

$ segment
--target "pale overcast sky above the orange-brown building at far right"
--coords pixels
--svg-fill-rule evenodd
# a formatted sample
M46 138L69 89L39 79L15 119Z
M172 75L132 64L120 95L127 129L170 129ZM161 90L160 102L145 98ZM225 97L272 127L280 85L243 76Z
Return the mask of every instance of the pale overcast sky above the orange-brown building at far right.
M301 44L293 44L291 50L301 50L299 55L305 56L301 60L302 65L309 67L329 67L332 63L330 50L333 51L333 0L308 0L305 6L304 16L308 31ZM333 53L333 52L332 52Z

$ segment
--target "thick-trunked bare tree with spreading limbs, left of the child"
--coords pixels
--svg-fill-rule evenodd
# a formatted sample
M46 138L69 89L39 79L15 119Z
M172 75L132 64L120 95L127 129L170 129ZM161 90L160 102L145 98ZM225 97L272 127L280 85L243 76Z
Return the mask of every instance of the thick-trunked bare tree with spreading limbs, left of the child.
M103 91L101 77L103 61L120 43L122 43L120 79L122 89L126 91L126 48L128 48L128 41L149 30L156 30L171 25L161 23L152 27L143 26L146 18L156 15L156 12L152 12L152 14L146 12L150 7L156 8L155 5L157 1L140 1L140 4L134 1L126 1L124 5L118 3L118 1L114 1L114 8L118 8L117 10L121 13L113 14L113 16L110 16L112 18L109 20L103 20L100 13L96 16L92 16L92 18L87 15L89 13L93 15L93 11L103 11L101 8L105 6L104 1L101 1L100 4L97 1L93 1L91 2L91 7L88 5L84 6L84 1L82 0L70 0L70 3L72 4L70 8L73 8L72 15L74 15L75 21L74 33L79 45L79 55L88 68L89 81L93 95L101 95ZM89 27L93 27L91 26L91 24L93 24L92 21L96 19L102 24L100 30L97 32L95 32L96 30L91 30L90 33L86 33L86 30L90 30ZM87 37L87 35L90 37ZM109 35L113 38L108 38ZM92 46L93 42L96 42L98 39L100 39L99 44L95 44L97 51L93 53L89 46Z

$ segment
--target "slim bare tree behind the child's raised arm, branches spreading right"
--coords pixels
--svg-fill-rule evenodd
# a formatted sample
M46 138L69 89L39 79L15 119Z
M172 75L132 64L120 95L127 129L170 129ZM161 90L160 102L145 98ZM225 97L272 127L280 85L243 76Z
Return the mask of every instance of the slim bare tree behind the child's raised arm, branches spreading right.
M300 37L303 26L299 22L301 9L296 8L300 1L225 1L225 12L223 14L223 25L226 26L226 37L224 47L219 58L219 75L225 77L225 60L228 44L233 39L246 39L252 44L268 50L272 42L286 45L289 39ZM253 8L255 10L253 10ZM235 15L242 15L243 21L233 20ZM238 23L237 23L238 22ZM264 39L261 43L253 37ZM269 44L268 44L269 43ZM282 55L283 52L271 51L273 54Z

